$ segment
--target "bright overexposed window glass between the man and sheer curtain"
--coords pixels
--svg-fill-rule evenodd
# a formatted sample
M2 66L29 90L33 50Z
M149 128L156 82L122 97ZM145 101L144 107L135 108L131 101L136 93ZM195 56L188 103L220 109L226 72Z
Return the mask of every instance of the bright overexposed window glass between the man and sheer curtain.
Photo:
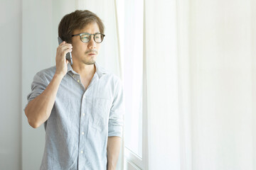
M124 2L125 147L142 158L143 1Z

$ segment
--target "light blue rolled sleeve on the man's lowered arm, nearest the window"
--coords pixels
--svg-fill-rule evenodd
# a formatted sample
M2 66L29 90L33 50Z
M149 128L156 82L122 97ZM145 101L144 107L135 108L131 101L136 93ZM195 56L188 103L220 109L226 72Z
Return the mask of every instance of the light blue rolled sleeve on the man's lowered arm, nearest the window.
M110 109L110 119L108 124L108 136L122 137L124 124L124 95L122 81L118 79L114 88L114 99Z

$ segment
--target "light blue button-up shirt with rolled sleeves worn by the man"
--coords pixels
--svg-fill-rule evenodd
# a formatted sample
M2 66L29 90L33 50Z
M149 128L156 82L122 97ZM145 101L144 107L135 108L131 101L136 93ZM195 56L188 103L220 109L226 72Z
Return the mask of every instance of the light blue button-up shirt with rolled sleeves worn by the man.
M122 82L95 63L87 89L68 64L50 117L44 123L46 146L43 169L107 169L107 139L122 137L124 101ZM41 94L53 79L55 67L38 72L28 102Z

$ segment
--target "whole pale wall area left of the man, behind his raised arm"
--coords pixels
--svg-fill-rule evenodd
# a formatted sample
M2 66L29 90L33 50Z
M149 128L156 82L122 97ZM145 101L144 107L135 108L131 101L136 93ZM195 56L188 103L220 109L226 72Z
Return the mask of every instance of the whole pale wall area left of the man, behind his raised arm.
M1 1L0 169L39 169L45 132L23 108L34 74L55 64L60 19L74 10L75 1Z

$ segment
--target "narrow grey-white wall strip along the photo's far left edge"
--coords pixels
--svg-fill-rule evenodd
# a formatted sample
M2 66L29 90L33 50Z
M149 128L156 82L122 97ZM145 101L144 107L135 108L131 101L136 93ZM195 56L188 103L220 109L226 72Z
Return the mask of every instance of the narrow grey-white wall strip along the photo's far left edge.
M21 0L0 2L0 169L21 167Z

